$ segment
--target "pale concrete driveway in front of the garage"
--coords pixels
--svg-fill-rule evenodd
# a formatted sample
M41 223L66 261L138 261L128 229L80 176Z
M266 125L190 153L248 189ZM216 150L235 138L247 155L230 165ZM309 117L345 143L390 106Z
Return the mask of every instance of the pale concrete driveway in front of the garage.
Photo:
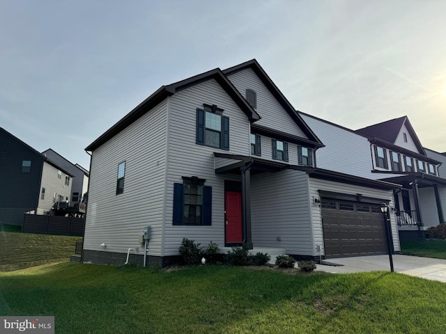
M358 273L361 271L390 271L389 255L342 257L323 260L316 271L328 273ZM446 283L446 260L409 255L393 255L394 271L410 276Z

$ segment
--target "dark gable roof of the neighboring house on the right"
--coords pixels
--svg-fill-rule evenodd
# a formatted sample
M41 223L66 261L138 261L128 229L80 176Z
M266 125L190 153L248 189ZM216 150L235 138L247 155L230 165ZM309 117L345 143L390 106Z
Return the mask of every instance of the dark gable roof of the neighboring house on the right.
M420 143L420 139L418 139L417 134L415 134L415 131L412 125L410 125L407 116L380 122L375 125L370 125L369 127L363 127L362 129L357 129L355 132L368 138L378 138L383 141L387 141L388 143L394 144L403 125L406 125L406 128L408 129L410 137L413 139L418 152L420 152L420 154L426 155L426 152L424 152L424 148Z

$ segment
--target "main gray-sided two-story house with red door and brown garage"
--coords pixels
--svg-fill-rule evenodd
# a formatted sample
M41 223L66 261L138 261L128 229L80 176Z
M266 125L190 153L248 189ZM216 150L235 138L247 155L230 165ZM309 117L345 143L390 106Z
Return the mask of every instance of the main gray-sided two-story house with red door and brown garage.
M316 168L321 147L255 60L162 86L86 148L83 261L141 264L146 226L155 265L183 238L312 259L385 253L380 205L395 185Z

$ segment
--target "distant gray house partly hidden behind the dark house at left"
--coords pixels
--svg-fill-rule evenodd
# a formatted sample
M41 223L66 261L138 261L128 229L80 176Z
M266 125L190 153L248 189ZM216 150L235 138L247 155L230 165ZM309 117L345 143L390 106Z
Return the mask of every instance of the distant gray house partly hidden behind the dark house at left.
M55 152L51 148L42 152L42 154L74 175L71 186L70 201L81 202L84 198L84 194L89 189L89 171L78 164L72 164L70 161L62 157L61 154Z

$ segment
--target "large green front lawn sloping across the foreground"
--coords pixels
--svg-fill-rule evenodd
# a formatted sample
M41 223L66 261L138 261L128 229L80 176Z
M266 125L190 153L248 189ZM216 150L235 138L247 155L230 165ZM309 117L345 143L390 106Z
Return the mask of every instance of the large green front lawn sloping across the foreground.
M61 263L0 273L0 315L56 333L444 333L446 285L399 273Z

